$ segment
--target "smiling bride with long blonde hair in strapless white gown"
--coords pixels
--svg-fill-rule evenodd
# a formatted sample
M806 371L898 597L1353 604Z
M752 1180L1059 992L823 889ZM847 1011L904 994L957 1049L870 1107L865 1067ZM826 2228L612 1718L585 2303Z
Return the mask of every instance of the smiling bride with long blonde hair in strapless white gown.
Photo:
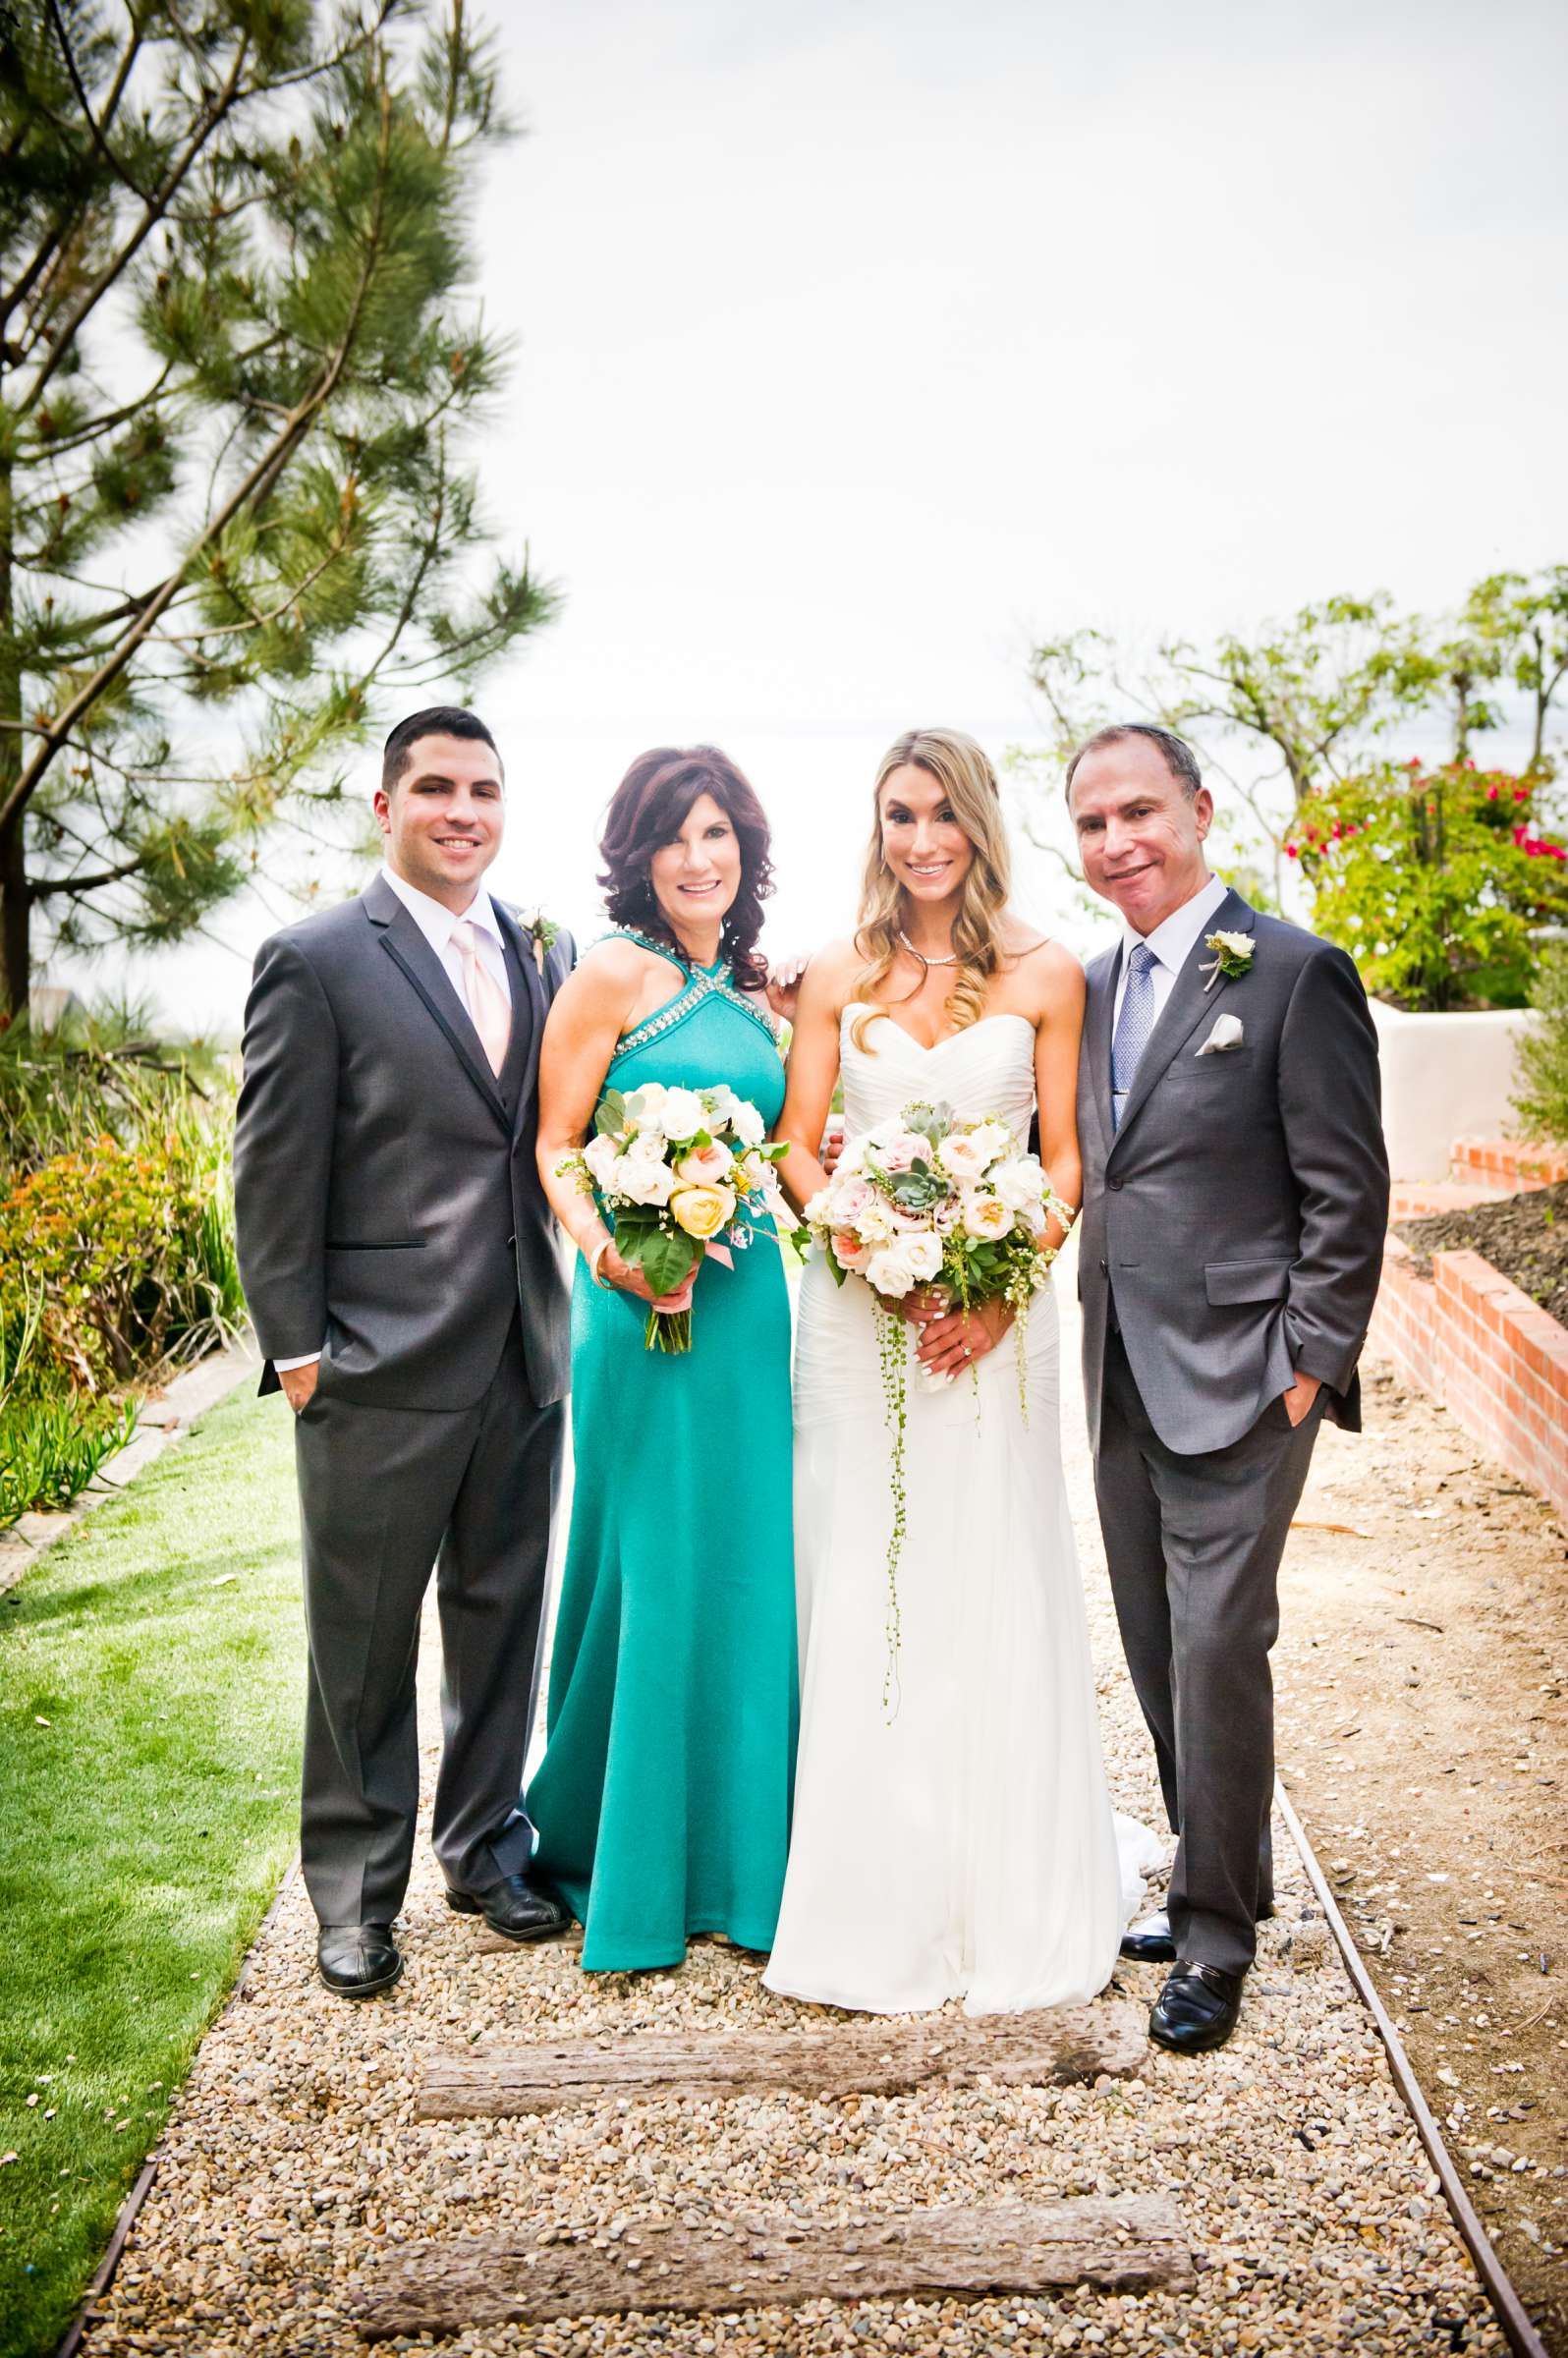
M797 1200L835 1082L844 1132L913 1101L1000 1115L1078 1203L1082 969L1007 910L990 762L955 731L877 773L851 943L799 986L778 1137ZM1054 1240L1054 1238L1052 1238ZM889 1429L877 1309L811 1257L795 1353L802 1724L771 1990L872 2014L1087 2000L1111 1978L1153 1839L1113 1820L1059 1445L1056 1302L908 1297L896 1707L884 1707ZM950 1375L931 1387L915 1368Z

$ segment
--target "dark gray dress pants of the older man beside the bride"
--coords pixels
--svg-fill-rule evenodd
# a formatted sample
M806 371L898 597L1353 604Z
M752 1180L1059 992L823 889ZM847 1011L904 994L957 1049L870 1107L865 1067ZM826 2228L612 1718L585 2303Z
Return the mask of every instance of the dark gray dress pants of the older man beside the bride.
M1240 1974L1273 1908L1278 1570L1323 1391L1292 1427L1271 1401L1226 1450L1179 1457L1153 1424L1120 1332L1106 1337L1094 1493L1127 1667L1177 1835L1177 1955Z

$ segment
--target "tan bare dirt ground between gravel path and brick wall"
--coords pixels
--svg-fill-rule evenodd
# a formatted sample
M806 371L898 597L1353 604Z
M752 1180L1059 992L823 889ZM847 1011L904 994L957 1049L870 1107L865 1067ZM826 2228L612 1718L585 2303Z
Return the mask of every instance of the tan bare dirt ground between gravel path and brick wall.
M1285 1554L1280 1776L1471 2200L1568 2353L1568 1537L1377 1363L1365 1422L1325 1427Z

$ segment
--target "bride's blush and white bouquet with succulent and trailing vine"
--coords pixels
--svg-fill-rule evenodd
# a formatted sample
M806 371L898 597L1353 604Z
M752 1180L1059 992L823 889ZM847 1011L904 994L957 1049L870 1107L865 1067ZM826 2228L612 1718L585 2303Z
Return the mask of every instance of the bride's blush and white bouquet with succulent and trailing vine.
M908 1323L896 1306L913 1287L941 1292L950 1309L1007 1302L1016 1313L1019 1403L1026 1403L1023 1316L1045 1285L1056 1247L1078 1217L1023 1153L1007 1122L960 1122L950 1106L905 1106L894 1122L851 1139L828 1186L806 1205L806 1229L844 1285L865 1278L877 1295L882 1391L894 1436L894 1528L887 1549L884 1707L898 1686L898 1556L903 1552L903 1438L908 1422ZM979 1368L971 1368L979 1387ZM938 1377L941 1384L950 1377ZM979 1389L976 1389L979 1412Z

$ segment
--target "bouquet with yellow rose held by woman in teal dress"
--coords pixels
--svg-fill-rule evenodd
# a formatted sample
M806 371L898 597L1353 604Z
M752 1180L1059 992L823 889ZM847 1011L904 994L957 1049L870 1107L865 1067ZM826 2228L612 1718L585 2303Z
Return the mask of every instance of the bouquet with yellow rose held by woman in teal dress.
M766 1214L792 1229L773 1172L788 1148L766 1134L757 1106L731 1087L646 1080L625 1096L606 1089L592 1144L559 1170L597 1188L620 1257L655 1295L672 1295L705 1254L733 1269L731 1250L745 1250ZM691 1351L691 1311L651 1309L644 1339L648 1351Z

